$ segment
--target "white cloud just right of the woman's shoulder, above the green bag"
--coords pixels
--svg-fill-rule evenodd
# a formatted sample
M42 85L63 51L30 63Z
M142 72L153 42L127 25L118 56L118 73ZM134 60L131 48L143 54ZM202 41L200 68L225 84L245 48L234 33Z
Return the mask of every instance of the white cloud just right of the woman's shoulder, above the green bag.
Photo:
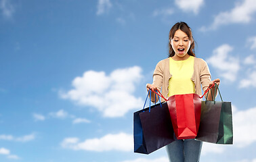
M239 59L230 54L232 51L233 48L230 45L221 45L213 51L213 55L207 59L207 63L216 68L220 76L234 82L240 65Z

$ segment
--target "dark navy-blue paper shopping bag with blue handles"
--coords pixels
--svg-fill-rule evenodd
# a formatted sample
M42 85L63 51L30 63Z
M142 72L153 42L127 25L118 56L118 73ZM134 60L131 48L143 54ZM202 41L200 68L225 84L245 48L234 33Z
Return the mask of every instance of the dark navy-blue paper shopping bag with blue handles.
M134 153L143 154L150 154L174 141L167 103L160 101L133 113L133 139Z

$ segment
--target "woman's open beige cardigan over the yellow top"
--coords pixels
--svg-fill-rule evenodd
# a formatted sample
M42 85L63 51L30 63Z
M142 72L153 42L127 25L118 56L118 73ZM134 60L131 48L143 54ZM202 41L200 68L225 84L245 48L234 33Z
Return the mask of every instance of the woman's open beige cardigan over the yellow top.
M169 79L171 74L169 72L169 58L159 61L156 65L153 74L153 85L156 86L158 90L161 90L163 97L167 99L169 92ZM194 57L194 73L192 74L191 80L194 82L195 93L202 95L202 90L206 90L211 82L211 74L208 68L207 63L200 58ZM158 101L156 97L156 101ZM154 102L154 97L151 98L151 101ZM165 101L161 99L161 101Z

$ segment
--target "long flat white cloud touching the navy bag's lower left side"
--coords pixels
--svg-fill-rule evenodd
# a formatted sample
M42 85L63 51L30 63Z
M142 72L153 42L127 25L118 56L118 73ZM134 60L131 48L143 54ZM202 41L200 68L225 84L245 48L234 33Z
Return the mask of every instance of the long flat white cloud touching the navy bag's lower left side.
M132 151L133 135L121 132L119 134L107 134L102 138L87 139L84 142L79 142L79 138L65 138L60 145L72 150Z

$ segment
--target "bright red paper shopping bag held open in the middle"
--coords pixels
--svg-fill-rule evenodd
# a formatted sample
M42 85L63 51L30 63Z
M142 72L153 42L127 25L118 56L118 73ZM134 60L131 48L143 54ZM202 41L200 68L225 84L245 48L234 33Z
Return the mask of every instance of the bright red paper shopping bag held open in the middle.
M196 137L201 101L198 94L175 94L167 99L173 130L178 140Z

